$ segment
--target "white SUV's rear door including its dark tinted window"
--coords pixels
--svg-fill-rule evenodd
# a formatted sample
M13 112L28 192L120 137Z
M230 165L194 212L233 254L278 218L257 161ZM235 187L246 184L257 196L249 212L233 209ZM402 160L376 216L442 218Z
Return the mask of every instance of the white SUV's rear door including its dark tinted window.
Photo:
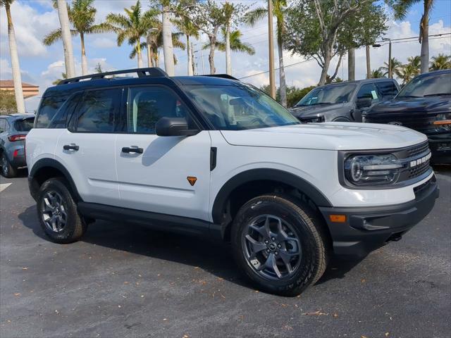
M86 202L120 205L114 144L122 93L116 87L74 96L75 112L58 139L56 159Z

